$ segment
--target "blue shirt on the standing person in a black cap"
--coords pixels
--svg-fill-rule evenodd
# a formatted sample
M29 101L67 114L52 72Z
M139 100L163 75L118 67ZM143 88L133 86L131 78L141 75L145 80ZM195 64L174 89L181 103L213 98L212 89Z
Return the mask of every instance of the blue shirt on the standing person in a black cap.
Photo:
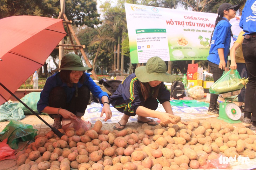
M231 27L232 25L229 21L223 17L223 20L218 22L215 26L213 37L211 38L211 47L209 51L209 56L207 60L213 62L214 64L220 64L220 56L218 55L218 49L224 49L225 62L228 61L228 53L231 42Z

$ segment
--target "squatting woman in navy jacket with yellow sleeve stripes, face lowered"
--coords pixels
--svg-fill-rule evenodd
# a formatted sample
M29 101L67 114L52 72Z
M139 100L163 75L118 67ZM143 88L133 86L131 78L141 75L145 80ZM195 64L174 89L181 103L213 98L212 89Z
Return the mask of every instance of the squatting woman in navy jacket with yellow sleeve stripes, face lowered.
M163 123L175 123L170 105L170 90L163 82L173 82L175 77L166 73L166 63L159 57L148 59L146 66L137 67L135 73L126 77L110 96L110 103L124 113L121 120L114 126L122 130L130 116L138 115L139 123L156 125L153 119L159 118ZM158 101L166 113L155 111Z

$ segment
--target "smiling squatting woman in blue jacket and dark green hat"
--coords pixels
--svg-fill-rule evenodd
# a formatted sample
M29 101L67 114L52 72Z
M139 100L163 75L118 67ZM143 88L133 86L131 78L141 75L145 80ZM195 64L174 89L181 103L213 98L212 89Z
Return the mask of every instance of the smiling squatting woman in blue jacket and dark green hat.
M90 78L90 74L85 72L86 70L92 71L92 68L84 67L78 55L63 56L60 68L52 72L58 70L60 72L46 80L37 103L39 113L48 113L54 119L53 127L61 128L62 118L81 118L89 103L90 93L103 103L101 117L105 113L105 121L111 118L108 94L103 92Z

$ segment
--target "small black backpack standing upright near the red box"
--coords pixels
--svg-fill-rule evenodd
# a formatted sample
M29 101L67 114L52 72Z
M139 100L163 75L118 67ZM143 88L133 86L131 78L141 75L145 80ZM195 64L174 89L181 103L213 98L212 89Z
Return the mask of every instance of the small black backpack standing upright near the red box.
M185 96L185 88L182 81L174 81L171 84L171 97L175 99L180 99Z

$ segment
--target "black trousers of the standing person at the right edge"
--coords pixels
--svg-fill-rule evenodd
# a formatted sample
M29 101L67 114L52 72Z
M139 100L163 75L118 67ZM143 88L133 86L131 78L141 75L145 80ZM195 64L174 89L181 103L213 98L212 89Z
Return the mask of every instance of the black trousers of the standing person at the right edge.
M256 38L252 37L243 40L243 56L248 70L249 82L245 91L244 112L252 112L251 120L256 121Z

